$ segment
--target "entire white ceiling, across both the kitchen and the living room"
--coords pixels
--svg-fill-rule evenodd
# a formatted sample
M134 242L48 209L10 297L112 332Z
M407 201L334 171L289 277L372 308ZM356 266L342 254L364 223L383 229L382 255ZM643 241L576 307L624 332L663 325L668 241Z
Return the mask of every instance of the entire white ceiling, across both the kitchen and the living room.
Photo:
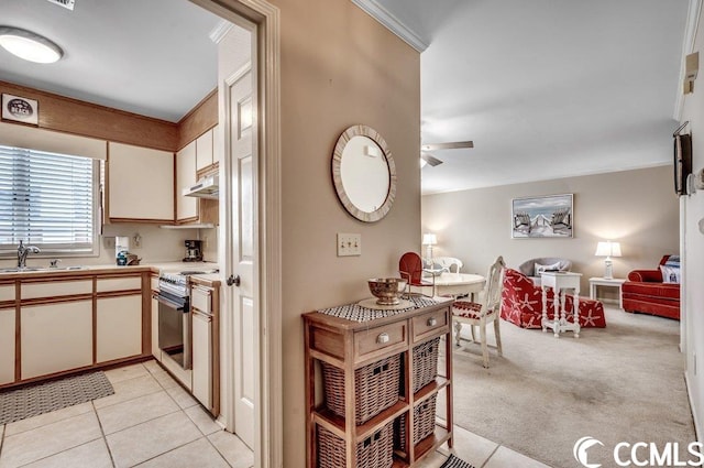
M364 1L429 44L424 142L474 141L433 152L425 194L671 162L689 0ZM216 86L220 19L187 0L0 0L0 23L66 52L0 48L0 80L168 121Z

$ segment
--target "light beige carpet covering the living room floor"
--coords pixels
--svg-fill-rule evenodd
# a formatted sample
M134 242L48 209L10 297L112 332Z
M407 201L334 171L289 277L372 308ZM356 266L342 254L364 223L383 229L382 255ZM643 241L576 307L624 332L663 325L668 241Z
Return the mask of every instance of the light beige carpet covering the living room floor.
M502 320L504 356L490 350L488 369L479 346L453 353L454 423L552 467L575 466L583 436L604 443L590 462L610 466L617 443L640 440L679 442L686 460L695 435L679 331L679 322L610 307L606 328L579 339Z

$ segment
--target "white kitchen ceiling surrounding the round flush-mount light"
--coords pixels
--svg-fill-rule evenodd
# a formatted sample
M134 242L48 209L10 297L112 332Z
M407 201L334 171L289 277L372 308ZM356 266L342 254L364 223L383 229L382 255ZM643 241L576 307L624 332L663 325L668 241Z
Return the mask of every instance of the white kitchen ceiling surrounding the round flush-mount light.
M0 80L176 122L216 87L220 22L187 0L0 0L0 24L65 52L42 65L0 47Z

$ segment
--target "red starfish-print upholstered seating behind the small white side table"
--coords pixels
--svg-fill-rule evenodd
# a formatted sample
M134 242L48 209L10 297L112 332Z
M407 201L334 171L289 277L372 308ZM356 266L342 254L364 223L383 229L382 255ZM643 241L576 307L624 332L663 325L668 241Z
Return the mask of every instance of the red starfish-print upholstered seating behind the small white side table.
M548 319L552 319L554 316L553 297L553 291L549 290ZM568 311L572 309L572 295L568 294L565 301L565 308ZM578 317L582 328L606 327L604 305L600 301L592 301L580 296ZM502 318L521 328L541 328L542 290L540 286L536 286L528 276L513 269L506 269L504 273ZM569 322L573 322L574 316L568 314L566 318Z

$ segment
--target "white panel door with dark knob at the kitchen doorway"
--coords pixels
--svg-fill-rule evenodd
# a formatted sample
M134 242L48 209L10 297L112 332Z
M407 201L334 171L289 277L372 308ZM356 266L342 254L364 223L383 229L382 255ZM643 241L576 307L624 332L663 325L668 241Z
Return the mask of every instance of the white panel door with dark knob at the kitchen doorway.
M233 275L240 284L232 291L232 326L234 338L234 432L254 447L256 401L256 366L258 362L258 283L257 259L256 157L253 152L252 72L246 70L230 84L230 177L232 183Z

